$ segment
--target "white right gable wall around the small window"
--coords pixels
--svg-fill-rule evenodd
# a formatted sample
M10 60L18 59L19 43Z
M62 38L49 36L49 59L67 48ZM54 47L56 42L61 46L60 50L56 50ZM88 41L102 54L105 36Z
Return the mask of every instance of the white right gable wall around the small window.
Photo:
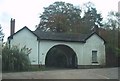
M84 45L82 65L92 65L92 50L97 51L98 65L104 65L105 64L104 41L96 34L92 35Z

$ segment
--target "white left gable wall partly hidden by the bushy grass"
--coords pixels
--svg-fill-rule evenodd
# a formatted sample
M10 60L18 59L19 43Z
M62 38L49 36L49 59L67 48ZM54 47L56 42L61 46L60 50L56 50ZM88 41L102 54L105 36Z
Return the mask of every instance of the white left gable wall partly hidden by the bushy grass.
M25 28L19 33L15 34L11 40L11 45L18 45L20 48L26 45L27 48L32 48L31 53L29 54L31 64L38 64L37 37L28 29Z

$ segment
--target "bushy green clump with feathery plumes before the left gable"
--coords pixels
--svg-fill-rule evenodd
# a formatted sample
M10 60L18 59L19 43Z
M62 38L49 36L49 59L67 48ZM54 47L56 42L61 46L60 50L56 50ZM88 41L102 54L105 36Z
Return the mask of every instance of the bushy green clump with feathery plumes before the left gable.
M29 69L29 53L31 49L23 48L19 49L18 46L9 48L6 44L2 51L2 69L3 71L25 71Z

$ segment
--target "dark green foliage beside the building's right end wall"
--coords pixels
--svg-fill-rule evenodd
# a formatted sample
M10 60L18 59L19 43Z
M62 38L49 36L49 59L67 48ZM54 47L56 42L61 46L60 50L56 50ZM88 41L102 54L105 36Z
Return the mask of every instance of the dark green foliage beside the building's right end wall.
M107 66L117 66L120 58L118 30L100 30L100 35L106 40ZM120 33L120 32L119 32Z

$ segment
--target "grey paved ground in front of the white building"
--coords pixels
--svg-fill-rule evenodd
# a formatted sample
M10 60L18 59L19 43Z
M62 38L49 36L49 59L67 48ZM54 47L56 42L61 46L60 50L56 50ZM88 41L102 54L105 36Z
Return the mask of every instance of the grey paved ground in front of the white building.
M3 79L118 79L118 68L3 73Z

